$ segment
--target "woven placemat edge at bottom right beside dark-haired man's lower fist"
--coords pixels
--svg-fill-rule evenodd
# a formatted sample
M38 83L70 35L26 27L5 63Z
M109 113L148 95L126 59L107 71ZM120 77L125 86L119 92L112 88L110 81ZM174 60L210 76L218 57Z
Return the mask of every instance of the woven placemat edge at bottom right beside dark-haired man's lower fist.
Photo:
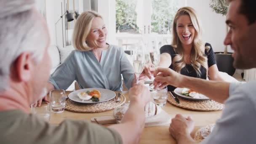
M206 125L202 128L200 128L194 136L194 139L197 143L200 143L201 141L203 141L203 139L205 139L210 133L211 133L211 128L214 126L215 124L212 125Z

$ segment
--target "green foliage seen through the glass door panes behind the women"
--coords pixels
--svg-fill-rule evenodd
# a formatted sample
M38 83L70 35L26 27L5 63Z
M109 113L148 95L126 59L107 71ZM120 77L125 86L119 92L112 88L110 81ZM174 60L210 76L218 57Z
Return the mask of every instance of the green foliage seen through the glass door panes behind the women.
M137 0L116 0L116 31L139 33L136 26ZM167 34L178 10L178 0L152 0L152 32Z

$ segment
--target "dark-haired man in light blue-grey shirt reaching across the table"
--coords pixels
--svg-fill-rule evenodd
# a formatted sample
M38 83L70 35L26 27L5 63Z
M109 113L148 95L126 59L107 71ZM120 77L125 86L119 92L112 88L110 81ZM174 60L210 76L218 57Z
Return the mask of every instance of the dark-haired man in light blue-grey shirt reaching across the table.
M234 50L234 67L256 68L256 0L229 0L226 23L229 32L224 40ZM155 85L186 87L225 103L221 118L201 144L256 144L256 81L225 83L186 77L171 69L155 72ZM193 120L176 115L169 131L178 144L194 144L190 136Z

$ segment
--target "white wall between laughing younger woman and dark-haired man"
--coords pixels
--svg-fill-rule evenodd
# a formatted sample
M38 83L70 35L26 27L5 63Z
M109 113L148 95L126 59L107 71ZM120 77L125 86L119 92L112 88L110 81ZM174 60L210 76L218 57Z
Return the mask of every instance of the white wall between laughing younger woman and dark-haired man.
M226 36L226 16L216 14L209 6L210 0L187 0L187 6L194 8L203 24L203 40L211 43L213 51L224 51L224 38ZM228 48L229 52L232 52Z

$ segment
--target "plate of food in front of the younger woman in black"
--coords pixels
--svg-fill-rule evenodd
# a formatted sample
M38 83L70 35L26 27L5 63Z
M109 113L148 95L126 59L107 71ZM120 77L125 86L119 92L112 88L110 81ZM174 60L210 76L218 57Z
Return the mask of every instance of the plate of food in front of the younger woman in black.
M184 99L195 100L195 101L209 100L207 96L201 93L197 93L196 91L193 91L189 88L176 88L174 90L174 93L176 93L178 96Z

